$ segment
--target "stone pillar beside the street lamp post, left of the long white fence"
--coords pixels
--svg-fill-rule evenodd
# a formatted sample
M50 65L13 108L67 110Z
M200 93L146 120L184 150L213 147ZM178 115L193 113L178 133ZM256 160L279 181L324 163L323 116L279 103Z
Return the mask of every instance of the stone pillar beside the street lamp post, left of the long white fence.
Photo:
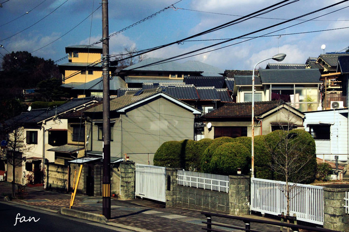
M229 211L235 216L250 214L249 176L229 176Z

